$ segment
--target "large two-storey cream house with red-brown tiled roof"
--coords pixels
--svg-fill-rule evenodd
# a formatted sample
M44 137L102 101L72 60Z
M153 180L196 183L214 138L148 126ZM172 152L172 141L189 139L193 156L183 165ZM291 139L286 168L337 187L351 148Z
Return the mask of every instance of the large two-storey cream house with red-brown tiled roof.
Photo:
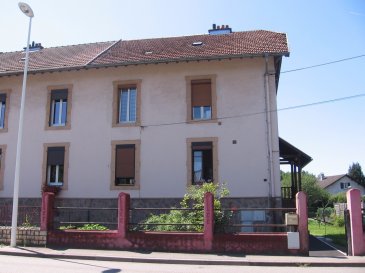
M13 195L24 56L0 53L3 203ZM281 159L295 170L308 163L285 141L285 155L279 152L275 109L284 56L285 34L228 26L183 37L36 43L20 202L39 203L48 185L61 189L63 204L110 206L123 191L159 206L189 185L214 181L227 182L240 204L280 206Z

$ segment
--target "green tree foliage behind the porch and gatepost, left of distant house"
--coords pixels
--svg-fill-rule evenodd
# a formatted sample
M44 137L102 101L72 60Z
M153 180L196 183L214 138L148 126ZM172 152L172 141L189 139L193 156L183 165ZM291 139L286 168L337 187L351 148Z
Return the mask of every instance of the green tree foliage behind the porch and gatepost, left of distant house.
M291 186L290 172L281 173L281 185L283 187ZM322 206L330 197L330 194L318 185L316 176L305 171L302 172L302 191L307 194L308 207Z

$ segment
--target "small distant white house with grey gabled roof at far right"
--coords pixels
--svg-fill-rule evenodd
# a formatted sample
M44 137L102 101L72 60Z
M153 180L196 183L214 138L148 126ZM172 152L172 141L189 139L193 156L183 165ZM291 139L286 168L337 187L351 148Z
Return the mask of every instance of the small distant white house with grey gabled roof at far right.
M365 195L365 187L354 181L347 174L324 176L320 175L319 186L330 194L347 192L349 189L359 189L361 195Z

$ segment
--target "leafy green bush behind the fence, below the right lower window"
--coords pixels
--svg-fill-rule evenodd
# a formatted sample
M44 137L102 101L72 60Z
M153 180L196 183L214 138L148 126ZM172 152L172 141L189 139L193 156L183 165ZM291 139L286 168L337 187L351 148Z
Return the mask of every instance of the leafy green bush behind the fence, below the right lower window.
M228 221L231 216L222 211L221 197L229 195L228 189L223 185L215 183L204 183L202 185L190 186L183 200L180 202L182 209L172 208L169 213L151 214L147 220L142 222L141 228L149 231L203 231L204 222L204 195L210 192L214 195L214 220L216 225ZM147 225L143 225L147 224ZM160 225L159 225L160 224Z

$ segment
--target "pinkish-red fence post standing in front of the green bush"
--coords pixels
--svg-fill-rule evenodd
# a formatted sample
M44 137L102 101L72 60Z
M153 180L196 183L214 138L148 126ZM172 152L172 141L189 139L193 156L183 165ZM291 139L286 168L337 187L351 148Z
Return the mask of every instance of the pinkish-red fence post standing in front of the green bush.
M210 192L204 195L204 245L206 250L213 248L214 236L214 196Z

